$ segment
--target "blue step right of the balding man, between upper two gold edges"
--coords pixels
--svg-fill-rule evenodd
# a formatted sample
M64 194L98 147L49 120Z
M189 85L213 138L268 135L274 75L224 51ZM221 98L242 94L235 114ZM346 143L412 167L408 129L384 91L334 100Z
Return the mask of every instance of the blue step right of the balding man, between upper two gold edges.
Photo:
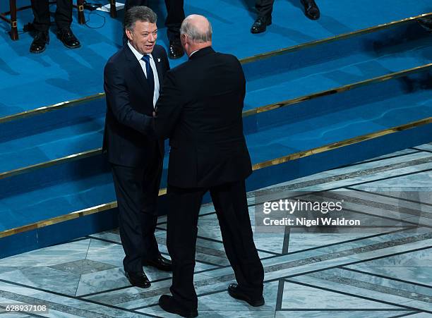
M376 78L432 60L416 21L246 63L245 110Z

